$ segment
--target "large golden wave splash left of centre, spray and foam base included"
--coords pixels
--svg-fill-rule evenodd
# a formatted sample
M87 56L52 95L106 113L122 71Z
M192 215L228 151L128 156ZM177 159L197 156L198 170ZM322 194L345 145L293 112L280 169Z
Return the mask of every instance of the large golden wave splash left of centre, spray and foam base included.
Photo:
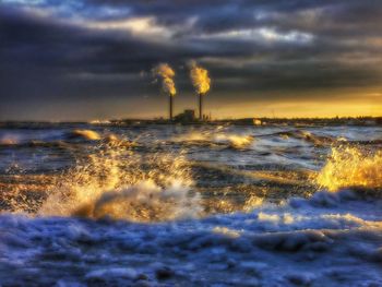
M82 160L57 180L39 216L160 222L202 211L181 155L144 156L109 143Z

